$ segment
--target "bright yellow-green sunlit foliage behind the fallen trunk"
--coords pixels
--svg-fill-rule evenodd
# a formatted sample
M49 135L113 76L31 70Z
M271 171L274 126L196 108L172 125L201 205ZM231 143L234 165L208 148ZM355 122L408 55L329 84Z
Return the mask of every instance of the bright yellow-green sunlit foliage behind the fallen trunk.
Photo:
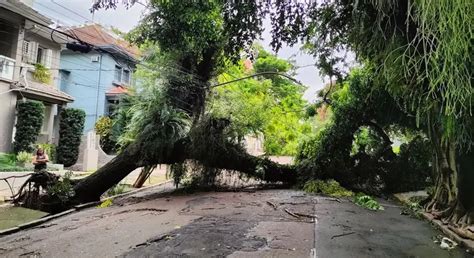
M249 73L288 72L292 65L258 48L254 70L241 61L229 66L219 76L220 82L241 78ZM264 149L269 155L294 155L299 138L311 130L305 120L304 87L277 75L267 75L238 81L214 89L209 112L218 118L231 120L236 137L262 133Z

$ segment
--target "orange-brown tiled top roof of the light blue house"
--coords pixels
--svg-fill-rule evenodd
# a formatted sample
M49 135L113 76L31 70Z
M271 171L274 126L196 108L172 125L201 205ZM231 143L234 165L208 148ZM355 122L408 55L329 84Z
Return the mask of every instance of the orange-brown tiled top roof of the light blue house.
M0 0L1 1L1 0ZM66 32L77 36L81 41L99 47L114 46L125 52L130 57L136 59L139 56L139 49L129 42L114 36L114 34L99 24L90 24L82 27L66 29Z

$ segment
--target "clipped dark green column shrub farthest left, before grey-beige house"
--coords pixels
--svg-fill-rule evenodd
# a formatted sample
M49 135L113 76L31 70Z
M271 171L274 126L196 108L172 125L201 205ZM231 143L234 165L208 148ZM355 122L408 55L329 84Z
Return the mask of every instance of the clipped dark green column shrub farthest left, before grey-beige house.
M41 130L44 118L44 105L38 101L20 102L17 106L17 123L13 150L33 152L33 143Z

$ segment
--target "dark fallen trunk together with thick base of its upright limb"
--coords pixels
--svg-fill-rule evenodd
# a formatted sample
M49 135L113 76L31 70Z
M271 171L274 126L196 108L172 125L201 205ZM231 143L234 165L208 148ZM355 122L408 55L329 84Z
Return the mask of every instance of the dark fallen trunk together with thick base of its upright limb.
M215 128L215 120L204 119L190 131L187 137L165 149L154 149L158 155L143 160L142 141L137 139L112 161L74 186L75 202L96 201L112 186L118 184L136 168L149 164L176 164L194 160L199 164L220 170L238 171L248 177L266 182L294 183L295 170L291 166L280 165L266 158L252 156L242 146L229 142L223 134L224 128L203 132L203 128ZM199 136L199 139L195 137ZM160 140L160 139L157 139ZM195 148L199 146L199 148Z

